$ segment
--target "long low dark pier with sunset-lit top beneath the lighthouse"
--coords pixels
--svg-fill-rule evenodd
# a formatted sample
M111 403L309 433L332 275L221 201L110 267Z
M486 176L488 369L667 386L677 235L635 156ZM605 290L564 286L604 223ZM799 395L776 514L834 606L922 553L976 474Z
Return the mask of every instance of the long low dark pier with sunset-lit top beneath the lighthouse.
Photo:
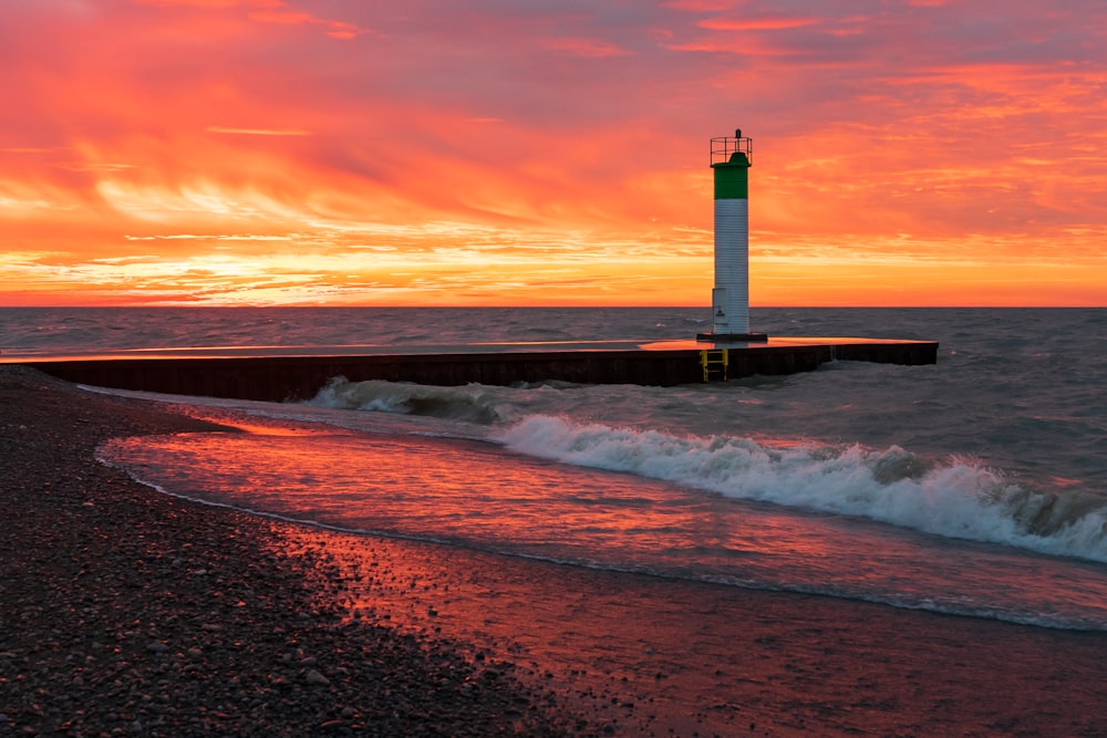
M707 353L705 353L707 352ZM672 386L809 372L831 361L934 364L938 343L772 337L757 343L594 341L464 346L240 346L113 354L2 354L77 384L178 395L283 402L313 397L331 378L439 386L546 381ZM705 362L711 371L705 372Z

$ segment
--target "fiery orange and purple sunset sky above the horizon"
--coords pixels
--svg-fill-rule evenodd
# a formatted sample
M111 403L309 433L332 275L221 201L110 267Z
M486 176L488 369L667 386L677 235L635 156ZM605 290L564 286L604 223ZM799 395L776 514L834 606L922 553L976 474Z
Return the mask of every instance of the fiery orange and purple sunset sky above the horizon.
M1103 0L3 0L0 305L1107 305Z

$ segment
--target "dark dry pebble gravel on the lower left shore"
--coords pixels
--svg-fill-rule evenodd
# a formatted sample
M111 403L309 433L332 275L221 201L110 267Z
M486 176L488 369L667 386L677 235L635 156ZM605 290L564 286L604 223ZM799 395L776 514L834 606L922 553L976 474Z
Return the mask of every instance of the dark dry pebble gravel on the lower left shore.
M279 523L93 458L213 426L13 365L0 407L0 736L604 732L510 664L343 620L310 553L257 544Z

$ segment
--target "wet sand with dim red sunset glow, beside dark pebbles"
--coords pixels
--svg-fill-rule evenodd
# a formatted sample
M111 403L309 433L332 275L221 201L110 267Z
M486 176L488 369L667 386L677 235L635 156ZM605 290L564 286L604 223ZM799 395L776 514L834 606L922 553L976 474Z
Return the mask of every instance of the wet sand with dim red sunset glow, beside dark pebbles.
M494 674L554 689L614 735L954 735L996 720L1049 735L1096 719L1083 679L1101 671L1104 643L1077 633L281 533L280 553L318 554L323 606L442 638Z

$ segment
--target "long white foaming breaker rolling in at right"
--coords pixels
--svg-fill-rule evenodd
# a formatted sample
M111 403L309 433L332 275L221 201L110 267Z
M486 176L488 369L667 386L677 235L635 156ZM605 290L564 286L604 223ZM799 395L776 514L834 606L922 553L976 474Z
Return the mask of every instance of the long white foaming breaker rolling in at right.
M513 450L728 497L865 517L949 538L1107 562L1107 507L1027 489L979 461L933 462L898 446L774 446L530 416L497 433Z

